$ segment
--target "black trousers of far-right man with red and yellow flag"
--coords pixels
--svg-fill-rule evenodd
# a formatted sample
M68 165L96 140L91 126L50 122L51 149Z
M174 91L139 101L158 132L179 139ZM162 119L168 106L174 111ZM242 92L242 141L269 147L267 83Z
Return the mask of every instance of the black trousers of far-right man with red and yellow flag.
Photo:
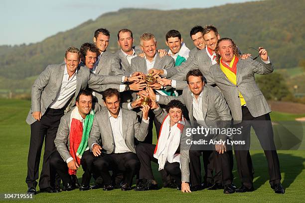
M249 140L251 126L253 127L265 152L270 176L270 185L274 186L275 184L281 183L282 177L280 172L280 162L274 144L273 129L269 113L259 117L253 117L247 106L242 107L242 113L243 121L235 125L236 128L242 126L242 134L240 135L242 137L234 137L234 140L246 140L246 144L248 145L246 149L234 145L238 175L242 184L247 188L251 188L253 186L254 170L248 148L250 145Z

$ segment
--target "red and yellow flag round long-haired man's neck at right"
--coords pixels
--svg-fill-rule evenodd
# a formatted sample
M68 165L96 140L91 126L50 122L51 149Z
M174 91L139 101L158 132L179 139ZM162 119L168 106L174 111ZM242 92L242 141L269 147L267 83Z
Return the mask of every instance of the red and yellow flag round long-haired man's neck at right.
M237 81L236 81L237 80L236 79L237 62L238 62L238 58L235 57L235 55L234 55L229 66L222 61L222 58L220 58L220 63L219 63L222 72L226 75L226 77L229 79L229 81L231 83L233 83L234 85L236 85L236 83L237 83ZM239 93L241 105L245 105L246 101L245 101L244 97L242 96L242 94L240 92L238 92L238 93Z

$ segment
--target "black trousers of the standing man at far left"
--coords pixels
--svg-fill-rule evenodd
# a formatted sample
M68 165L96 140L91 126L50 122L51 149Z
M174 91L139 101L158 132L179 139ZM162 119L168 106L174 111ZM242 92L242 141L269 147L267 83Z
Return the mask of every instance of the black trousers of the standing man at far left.
M39 179L39 188L47 188L54 185L50 181L50 156L56 150L54 139L64 115L63 109L48 108L40 121L31 124L31 138L27 157L27 177L25 182L28 187L36 187L39 173L39 163L44 141L44 154L42 170ZM59 180L60 181L60 180Z

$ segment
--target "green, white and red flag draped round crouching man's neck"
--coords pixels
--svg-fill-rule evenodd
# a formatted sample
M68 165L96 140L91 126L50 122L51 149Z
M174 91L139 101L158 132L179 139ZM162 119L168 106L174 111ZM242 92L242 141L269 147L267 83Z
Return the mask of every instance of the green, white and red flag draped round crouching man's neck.
M80 165L80 159L84 151L88 150L88 139L93 124L94 111L91 109L90 113L82 123L82 116L78 111L78 107L71 112L70 116L70 155ZM75 175L76 170L69 169L70 175Z

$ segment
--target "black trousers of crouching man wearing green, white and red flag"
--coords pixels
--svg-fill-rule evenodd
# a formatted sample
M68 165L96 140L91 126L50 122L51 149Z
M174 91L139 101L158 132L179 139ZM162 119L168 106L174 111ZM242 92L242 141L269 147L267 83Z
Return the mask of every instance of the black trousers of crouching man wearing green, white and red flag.
M93 160L94 156L87 150L83 153L80 164L84 170L84 174L82 176L82 185L88 186L91 180L91 174L93 171ZM61 158L59 152L56 150L52 153L51 159L51 177L54 177L54 174L57 172L63 182L64 185L68 183L71 184L71 178L69 175L69 168L67 163Z

